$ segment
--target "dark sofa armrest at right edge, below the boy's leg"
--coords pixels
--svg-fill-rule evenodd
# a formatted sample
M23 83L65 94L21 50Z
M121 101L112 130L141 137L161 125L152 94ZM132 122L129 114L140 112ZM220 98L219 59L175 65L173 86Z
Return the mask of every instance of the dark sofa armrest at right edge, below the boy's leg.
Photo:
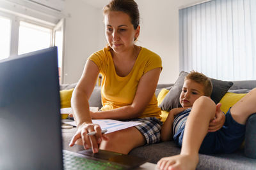
M256 113L246 122L244 154L246 157L256 159Z

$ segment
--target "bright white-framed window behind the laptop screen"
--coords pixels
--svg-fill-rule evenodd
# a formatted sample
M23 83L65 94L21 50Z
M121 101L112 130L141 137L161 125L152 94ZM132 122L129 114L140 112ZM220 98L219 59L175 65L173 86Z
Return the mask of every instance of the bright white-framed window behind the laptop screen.
M59 78L63 70L64 19L57 24L5 13L0 8L0 60L50 46L58 46Z

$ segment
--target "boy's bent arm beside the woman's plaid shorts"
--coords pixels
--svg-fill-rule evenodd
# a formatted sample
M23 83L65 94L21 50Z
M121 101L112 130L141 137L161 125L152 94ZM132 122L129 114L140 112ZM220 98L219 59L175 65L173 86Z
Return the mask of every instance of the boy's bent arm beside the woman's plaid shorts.
M174 116L179 114L180 112L186 110L187 108L174 108L170 110L168 117L166 118L163 127L161 129L161 140L162 141L170 141L172 139L172 127L173 127L173 119Z

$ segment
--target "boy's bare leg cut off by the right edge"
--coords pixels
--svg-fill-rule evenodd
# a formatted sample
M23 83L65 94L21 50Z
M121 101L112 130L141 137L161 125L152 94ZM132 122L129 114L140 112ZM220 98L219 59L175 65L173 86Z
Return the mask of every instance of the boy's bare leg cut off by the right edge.
M248 117L256 113L256 88L234 104L230 113L237 123L245 125Z

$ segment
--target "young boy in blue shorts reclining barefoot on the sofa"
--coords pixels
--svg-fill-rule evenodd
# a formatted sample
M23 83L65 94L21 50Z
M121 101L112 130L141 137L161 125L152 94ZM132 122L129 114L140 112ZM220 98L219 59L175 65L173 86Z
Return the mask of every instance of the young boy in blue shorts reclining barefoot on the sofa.
M211 100L211 92L211 80L204 74L193 71L186 76L180 93L182 108L170 111L161 130L163 141L173 137L182 148L179 155L159 160L159 169L196 169L198 152L230 153L239 148L244 140L246 120L256 112L256 89L227 111L223 121L225 124L220 123L220 129L218 124L209 132L210 122L214 118L221 122L224 116L220 110L221 104L216 105ZM171 129L173 131L170 132Z

